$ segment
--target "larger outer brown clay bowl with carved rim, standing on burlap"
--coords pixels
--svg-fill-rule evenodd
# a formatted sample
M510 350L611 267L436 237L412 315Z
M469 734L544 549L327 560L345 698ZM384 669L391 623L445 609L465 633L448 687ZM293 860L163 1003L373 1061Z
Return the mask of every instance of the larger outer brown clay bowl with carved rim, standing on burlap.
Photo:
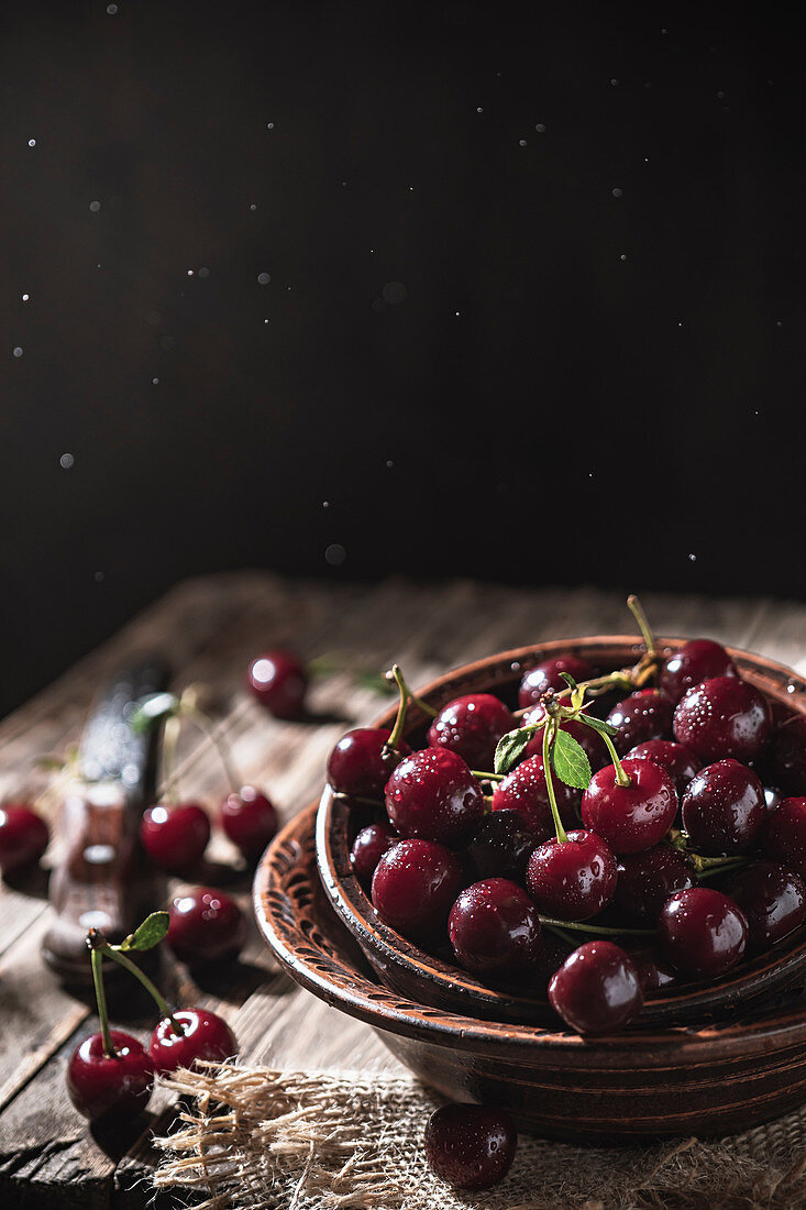
M388 990L324 894L316 809L292 819L258 866L260 930L298 984L372 1025L401 1062L450 1100L497 1104L523 1129L599 1143L725 1135L806 1100L800 992L714 1024L634 1025L588 1039L449 1013Z

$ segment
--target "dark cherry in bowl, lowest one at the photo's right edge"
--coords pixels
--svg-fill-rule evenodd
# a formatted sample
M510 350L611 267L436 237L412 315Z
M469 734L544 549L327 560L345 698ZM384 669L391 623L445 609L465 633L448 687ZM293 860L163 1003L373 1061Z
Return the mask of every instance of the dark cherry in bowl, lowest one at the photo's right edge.
M727 888L749 928L748 952L761 953L806 920L806 882L773 862L754 862Z

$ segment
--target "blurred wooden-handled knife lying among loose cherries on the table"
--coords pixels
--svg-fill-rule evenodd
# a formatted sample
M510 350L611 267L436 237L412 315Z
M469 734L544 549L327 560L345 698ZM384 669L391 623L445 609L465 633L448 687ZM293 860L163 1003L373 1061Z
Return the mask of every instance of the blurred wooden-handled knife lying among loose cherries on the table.
M51 875L54 918L42 941L45 961L65 983L91 983L88 929L122 940L156 901L138 842L154 780L152 745L134 734L129 719L133 703L162 680L150 666L116 678L85 730L82 779L70 785L62 807L64 859Z

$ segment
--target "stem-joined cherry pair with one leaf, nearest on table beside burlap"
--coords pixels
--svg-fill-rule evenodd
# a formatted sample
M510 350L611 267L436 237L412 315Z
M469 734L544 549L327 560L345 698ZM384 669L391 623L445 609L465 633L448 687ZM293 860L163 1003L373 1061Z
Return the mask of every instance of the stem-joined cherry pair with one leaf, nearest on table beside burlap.
M91 929L87 935L100 1030L85 1038L70 1055L67 1088L75 1108L91 1122L134 1117L148 1105L157 1074L194 1067L202 1061L223 1061L237 1051L235 1036L223 1018L205 1008L171 1012L148 975L128 956L159 945L168 926L168 912L152 912L120 945L110 945L98 929ZM148 1047L109 1027L104 957L134 975L160 1010L160 1021Z

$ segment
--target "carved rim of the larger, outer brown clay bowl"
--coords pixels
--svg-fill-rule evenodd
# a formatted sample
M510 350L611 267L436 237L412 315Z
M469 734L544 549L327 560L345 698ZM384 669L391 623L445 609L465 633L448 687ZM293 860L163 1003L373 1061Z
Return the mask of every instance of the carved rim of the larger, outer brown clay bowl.
M652 1068L772 1056L806 1045L806 1008L795 998L778 1009L736 1016L695 1027L647 1030L632 1025L620 1033L581 1036L531 1025L511 1025L425 1008L390 991L342 955L334 956L327 928L346 932L321 891L315 859L318 803L298 812L263 854L254 875L253 906L260 933L292 979L319 999L396 1033L438 1047L514 1061L524 1067L562 1062L583 1070L620 1068L640 1055ZM310 904L317 893L324 915L310 927ZM298 910L298 904L303 904ZM307 912L307 916L304 914ZM347 934L349 935L349 934ZM355 944L355 941L353 941ZM772 1060L771 1060L772 1061Z

